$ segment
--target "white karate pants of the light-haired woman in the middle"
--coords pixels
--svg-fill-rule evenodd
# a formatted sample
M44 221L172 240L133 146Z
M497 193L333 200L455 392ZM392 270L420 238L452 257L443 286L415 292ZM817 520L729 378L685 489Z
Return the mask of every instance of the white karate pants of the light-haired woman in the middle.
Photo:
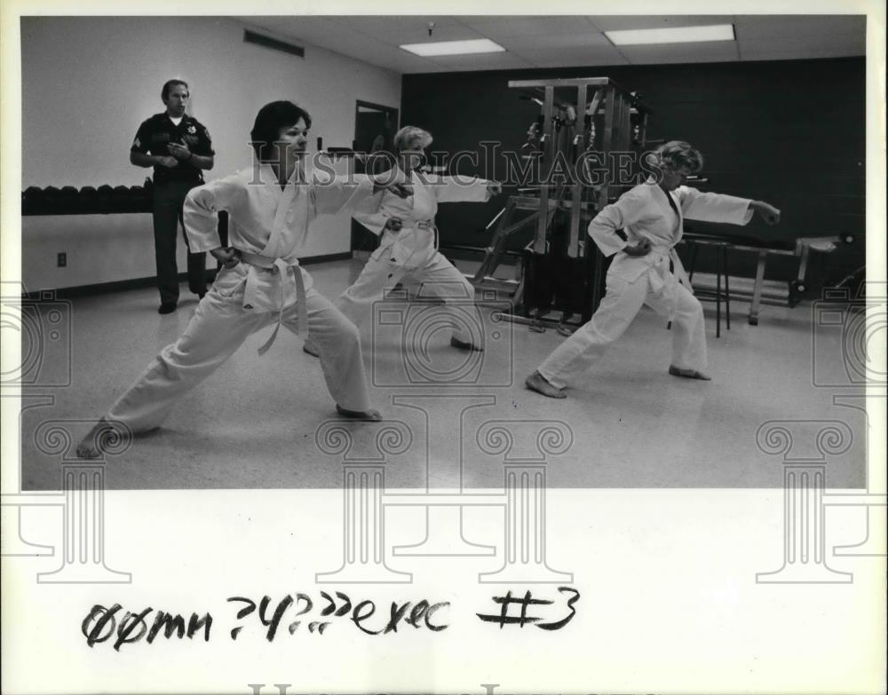
M437 296L444 301L445 307L474 301L472 283L439 251L435 251L424 265L416 266L399 265L387 255L387 250L370 257L358 279L339 296L337 308L355 326L361 328L373 312L373 304L384 299L385 289L393 288L401 281L420 284L422 296ZM457 340L469 342L472 339L458 321L451 320L451 324Z

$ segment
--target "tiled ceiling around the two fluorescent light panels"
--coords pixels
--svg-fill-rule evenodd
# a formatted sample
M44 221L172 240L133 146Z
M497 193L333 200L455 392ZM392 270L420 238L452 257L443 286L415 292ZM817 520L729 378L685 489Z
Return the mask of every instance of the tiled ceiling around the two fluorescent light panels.
M336 51L398 73L654 65L828 58L865 54L861 15L622 15L622 16L250 16L242 23L269 36ZM436 23L432 37L428 22ZM738 41L671 43L615 48L599 29L662 28L733 23ZM422 58L400 43L486 36L504 53Z

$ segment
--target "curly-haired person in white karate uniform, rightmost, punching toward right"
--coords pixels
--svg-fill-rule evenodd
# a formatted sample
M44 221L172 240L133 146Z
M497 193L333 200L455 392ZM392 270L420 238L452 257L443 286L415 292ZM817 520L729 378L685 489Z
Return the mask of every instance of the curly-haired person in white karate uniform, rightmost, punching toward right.
M568 384L575 383L622 336L642 304L671 321L670 375L710 379L703 371L707 359L702 306L674 250L682 222L687 218L746 225L757 212L765 223L775 225L780 210L766 202L684 186L687 176L703 166L702 154L686 142L673 140L660 146L652 163L656 177L624 193L591 221L589 233L601 252L615 254L607 271L606 294L591 320L527 377L528 389L565 398Z

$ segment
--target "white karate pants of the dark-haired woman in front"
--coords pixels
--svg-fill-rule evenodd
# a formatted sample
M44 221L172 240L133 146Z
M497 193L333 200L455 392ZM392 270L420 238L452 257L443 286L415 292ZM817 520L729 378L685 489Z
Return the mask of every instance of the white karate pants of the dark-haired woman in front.
M248 336L277 321L277 313L248 311L242 304L242 284L231 294L211 288L185 333L161 351L111 407L107 419L125 423L134 432L163 423L178 399L231 357ZM305 308L308 333L321 346L321 369L333 400L346 410L368 410L357 328L314 288L305 292ZM297 304L284 309L282 323L297 332Z

